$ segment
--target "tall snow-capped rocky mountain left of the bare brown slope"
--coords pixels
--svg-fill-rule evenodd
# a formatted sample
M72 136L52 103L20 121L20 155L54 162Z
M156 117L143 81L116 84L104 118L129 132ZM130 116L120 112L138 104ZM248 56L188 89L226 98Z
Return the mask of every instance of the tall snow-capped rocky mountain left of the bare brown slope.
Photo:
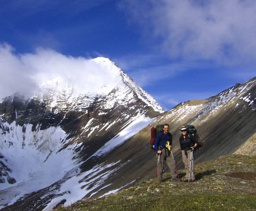
M77 83L54 77L30 96L1 101L0 208L25 203L15 210L50 210L94 195L121 168L102 158L163 112L117 64L98 57L91 66L102 77L92 70L84 70L85 84L79 76ZM29 193L33 199L25 200Z

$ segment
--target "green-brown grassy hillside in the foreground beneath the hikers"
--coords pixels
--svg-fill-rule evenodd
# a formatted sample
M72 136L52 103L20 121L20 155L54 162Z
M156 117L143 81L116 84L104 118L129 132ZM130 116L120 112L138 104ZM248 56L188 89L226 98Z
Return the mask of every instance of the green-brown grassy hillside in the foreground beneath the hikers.
M195 166L195 182L144 181L57 210L256 210L256 157L230 155ZM180 171L184 176L184 170Z

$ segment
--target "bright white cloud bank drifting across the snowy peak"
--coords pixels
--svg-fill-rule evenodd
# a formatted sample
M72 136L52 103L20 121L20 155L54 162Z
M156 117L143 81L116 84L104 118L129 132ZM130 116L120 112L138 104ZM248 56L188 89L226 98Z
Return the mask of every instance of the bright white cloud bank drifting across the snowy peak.
M111 91L121 80L118 70L109 64L65 56L50 49L16 55L9 45L0 46L0 76L0 98L17 91L32 94L39 91L40 84L55 78L64 86L71 84L76 94Z

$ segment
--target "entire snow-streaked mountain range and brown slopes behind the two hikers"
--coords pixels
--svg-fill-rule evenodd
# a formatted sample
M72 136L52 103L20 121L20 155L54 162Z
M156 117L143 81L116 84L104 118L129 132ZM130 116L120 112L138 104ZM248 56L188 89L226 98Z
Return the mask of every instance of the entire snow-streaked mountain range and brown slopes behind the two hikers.
M180 162L178 128L194 124L205 145L197 162L228 155L256 131L256 78L164 112L117 64L95 65L113 80L79 90L61 77L0 103L0 208L51 210L152 178L150 128L167 122ZM94 74L88 71L88 77Z

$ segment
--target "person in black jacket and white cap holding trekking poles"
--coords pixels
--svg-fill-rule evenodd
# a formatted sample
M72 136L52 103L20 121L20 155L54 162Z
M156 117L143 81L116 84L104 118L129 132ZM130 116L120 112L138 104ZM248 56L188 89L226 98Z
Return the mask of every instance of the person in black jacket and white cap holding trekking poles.
M184 181L194 181L195 173L190 173L189 178L189 164L191 153L193 153L194 155L194 151L198 145L198 140L193 135L189 135L188 128L186 126L182 126L181 128L179 128L179 130L181 131L181 136L179 137L179 144L181 145L182 161L184 162L186 169Z

